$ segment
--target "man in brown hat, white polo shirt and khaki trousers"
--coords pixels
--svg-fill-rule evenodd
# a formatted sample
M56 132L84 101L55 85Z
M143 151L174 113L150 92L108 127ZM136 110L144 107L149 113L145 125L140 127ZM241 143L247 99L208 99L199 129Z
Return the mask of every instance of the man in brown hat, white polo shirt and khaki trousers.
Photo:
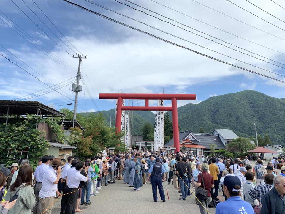
M50 166L45 170L42 177L42 189L39 192L39 203L41 204L41 212L45 211L45 214L51 214L53 209L53 201L56 196L61 196L58 192L57 183L61 174L61 159L54 158Z

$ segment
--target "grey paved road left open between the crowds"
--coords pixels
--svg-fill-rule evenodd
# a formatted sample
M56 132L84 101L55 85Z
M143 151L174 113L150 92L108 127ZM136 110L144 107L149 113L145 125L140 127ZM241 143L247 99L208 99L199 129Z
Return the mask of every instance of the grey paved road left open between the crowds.
M165 197L167 200L167 194L165 190L165 184L163 183ZM134 191L133 187L129 187L124 184L122 180L117 180L115 184L109 184L102 186L102 189L96 196L91 196L91 205L81 205L80 209L83 209L82 214L89 213L129 213L143 211L144 213L200 213L199 206L195 203L195 197L191 196L188 202L178 200L180 194L178 189L174 189L173 185L167 185L170 201L162 202L158 195L158 202L153 202L152 188L150 184L143 186L140 191ZM191 188L191 191L194 189ZM219 196L222 200L224 197ZM60 206L54 207L53 214L59 214ZM215 213L214 208L209 208L211 214Z

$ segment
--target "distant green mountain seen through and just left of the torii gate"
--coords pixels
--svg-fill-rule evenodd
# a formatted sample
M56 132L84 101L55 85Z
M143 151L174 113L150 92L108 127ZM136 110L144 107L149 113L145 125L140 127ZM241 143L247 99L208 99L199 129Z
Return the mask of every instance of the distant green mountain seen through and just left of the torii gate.
M111 115L111 126L115 126L115 108L110 109L109 111L96 111L92 112L94 114L103 113L103 116L107 118L107 121L110 124L110 115ZM150 122L151 124L154 124L155 114L153 114L151 111L133 111L134 115L132 116L132 112L130 117L133 117L134 119L134 129L133 134L142 134L142 127L145 123ZM88 115L90 113L80 113L84 115ZM131 119L131 118L130 118Z

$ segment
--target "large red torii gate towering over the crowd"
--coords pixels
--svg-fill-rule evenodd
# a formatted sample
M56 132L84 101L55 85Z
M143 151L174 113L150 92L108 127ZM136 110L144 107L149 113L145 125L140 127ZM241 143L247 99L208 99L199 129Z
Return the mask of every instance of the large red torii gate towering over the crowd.
M99 99L117 99L117 116L115 127L121 131L122 111L172 111L173 141L175 152L179 152L179 129L177 100L196 100L196 94L122 94L122 93L100 93ZM145 106L123 106L123 99L145 100ZM171 107L148 106L148 100L171 100Z

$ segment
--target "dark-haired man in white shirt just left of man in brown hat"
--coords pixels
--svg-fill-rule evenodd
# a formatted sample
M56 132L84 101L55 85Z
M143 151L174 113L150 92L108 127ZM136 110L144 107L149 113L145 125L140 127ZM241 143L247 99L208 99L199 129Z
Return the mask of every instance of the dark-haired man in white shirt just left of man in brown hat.
M47 164L50 163L50 156L45 155L42 157L42 164L37 166L35 170L34 177L36 178L36 185L35 185L35 196L36 196L36 204L33 207L33 214L40 214L41 213L41 204L39 203L39 191L42 188L42 178L46 169L48 168Z

